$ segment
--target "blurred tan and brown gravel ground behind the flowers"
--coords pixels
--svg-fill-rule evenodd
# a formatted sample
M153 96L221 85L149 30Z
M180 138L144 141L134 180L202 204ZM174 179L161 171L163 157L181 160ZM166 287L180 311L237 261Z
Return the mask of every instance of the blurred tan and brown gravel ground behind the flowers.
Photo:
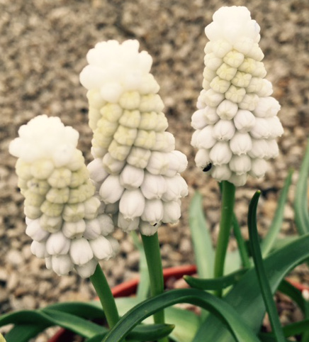
M79 131L79 148L91 160L86 92L79 84L79 72L86 65L87 51L100 40L136 38L141 50L152 55L169 131L176 135L176 147L189 158L184 177L190 193L184 200L184 215L176 226L159 229L164 266L194 262L187 208L196 188L205 194L215 240L218 186L196 170L190 117L201 90L207 42L203 29L223 5L246 5L261 26L267 78L281 103L279 117L285 127L279 141L281 155L271 162L264 180L249 179L247 186L237 190L237 216L246 236L248 201L257 188L262 189L259 228L263 232L274 214L287 170L293 167L296 172L281 233L296 232L294 184L309 133L308 0L0 0L0 313L94 297L87 280L74 274L57 277L45 269L43 260L31 255L30 238L24 233L23 198L16 187L16 160L9 155L8 145L30 118L60 116ZM139 258L130 238L120 232L117 236L122 238L120 255L103 263L111 285L135 277ZM304 267L298 275L309 283ZM45 335L36 341L46 341Z

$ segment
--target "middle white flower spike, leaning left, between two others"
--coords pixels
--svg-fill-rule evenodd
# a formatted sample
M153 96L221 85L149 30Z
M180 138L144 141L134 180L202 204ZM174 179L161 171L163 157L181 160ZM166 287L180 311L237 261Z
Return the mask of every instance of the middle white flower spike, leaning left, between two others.
M88 168L105 212L123 231L152 235L178 221L180 198L188 193L179 172L186 156L166 132L167 118L150 74L152 58L137 40L108 40L87 54L80 75L88 89L89 126L94 132Z

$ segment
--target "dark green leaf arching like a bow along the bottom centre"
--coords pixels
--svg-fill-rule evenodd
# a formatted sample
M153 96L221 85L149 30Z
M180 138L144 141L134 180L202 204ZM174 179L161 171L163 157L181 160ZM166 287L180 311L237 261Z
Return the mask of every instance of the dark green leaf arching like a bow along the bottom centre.
M213 312L230 329L239 342L257 342L259 339L237 316L230 305L199 289L174 289L147 299L131 309L104 338L104 342L121 341L143 319L154 312L177 303L190 303Z

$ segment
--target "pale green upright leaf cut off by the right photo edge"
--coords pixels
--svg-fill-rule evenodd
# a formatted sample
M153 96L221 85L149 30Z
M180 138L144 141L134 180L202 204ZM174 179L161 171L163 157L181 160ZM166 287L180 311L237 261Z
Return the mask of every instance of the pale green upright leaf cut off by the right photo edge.
M309 175L309 140L305 150L303 163L299 170L298 182L296 184L296 195L294 202L296 228L300 235L309 232L308 214L308 175Z

